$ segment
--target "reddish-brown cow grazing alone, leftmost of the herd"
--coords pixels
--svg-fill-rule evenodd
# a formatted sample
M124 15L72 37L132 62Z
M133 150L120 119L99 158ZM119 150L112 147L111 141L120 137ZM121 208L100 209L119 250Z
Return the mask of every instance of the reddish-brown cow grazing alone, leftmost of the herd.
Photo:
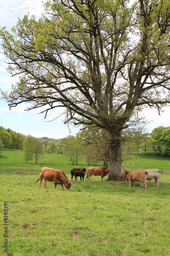
M53 181L55 189L57 184L60 184L63 190L64 190L63 184L68 190L70 190L70 187L72 184L72 182L67 179L65 173L62 170L56 170L48 167L42 167L42 169L40 170L39 179L37 180L39 181L39 186L38 186L39 188L40 188L42 179L44 179L45 188L46 188L47 181Z

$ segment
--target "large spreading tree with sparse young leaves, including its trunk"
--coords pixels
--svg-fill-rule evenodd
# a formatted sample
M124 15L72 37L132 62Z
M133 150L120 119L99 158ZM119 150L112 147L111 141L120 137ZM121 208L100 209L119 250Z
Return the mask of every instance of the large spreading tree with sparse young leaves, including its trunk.
M20 79L4 93L10 108L64 107L65 123L109 134L110 179L121 177L121 132L144 106L169 103L170 0L49 0L36 21L26 15L1 30L9 71ZM63 113L64 113L63 111Z

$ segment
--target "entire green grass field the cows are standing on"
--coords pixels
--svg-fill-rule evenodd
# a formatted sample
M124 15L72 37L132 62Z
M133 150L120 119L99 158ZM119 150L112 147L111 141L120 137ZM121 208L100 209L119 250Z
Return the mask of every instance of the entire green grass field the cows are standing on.
M67 157L45 154L37 165L34 161L26 165L21 155L0 154L0 255L6 255L5 239L8 255L170 254L170 158L132 156L123 164L128 170L160 168L159 187L154 181L143 189L138 182L129 187L125 181L104 177L101 182L92 176L90 182L80 182L78 177L70 191L63 191L60 185L55 190L53 182L47 182L47 189L42 183L39 189L35 181L42 166L62 169L70 179L72 165ZM83 158L79 166L87 167ZM16 174L18 169L23 174ZM35 175L29 174L32 171Z

